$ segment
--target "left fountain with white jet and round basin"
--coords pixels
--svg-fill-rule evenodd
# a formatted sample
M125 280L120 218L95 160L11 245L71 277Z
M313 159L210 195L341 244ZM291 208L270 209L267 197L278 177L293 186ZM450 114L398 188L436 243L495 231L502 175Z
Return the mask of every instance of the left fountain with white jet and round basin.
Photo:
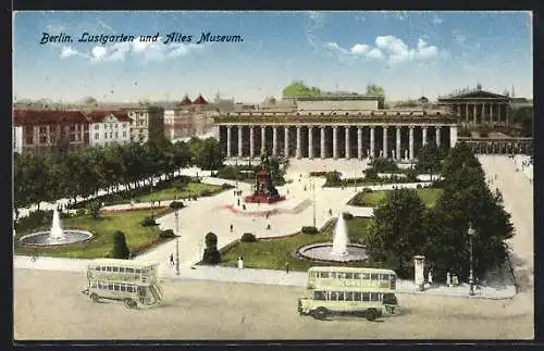
M62 229L59 210L55 208L53 210L53 222L49 231L36 231L25 235L18 239L18 242L28 247L52 247L83 242L90 238L92 238L92 234L89 231Z

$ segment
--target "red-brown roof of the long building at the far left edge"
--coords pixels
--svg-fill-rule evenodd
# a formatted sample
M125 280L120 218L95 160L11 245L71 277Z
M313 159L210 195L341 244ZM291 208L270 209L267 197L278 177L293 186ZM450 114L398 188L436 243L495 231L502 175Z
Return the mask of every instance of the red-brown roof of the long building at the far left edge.
M81 111L62 110L14 110L13 125L44 125L59 123L89 123L89 118Z

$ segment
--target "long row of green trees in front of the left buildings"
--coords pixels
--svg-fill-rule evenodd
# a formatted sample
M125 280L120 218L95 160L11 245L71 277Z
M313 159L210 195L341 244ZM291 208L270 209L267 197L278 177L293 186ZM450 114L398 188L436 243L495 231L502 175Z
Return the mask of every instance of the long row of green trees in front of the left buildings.
M94 196L124 185L128 189L146 186L144 179L174 172L187 165L213 170L223 164L218 141L191 139L114 145L50 154L14 154L15 209L40 201Z

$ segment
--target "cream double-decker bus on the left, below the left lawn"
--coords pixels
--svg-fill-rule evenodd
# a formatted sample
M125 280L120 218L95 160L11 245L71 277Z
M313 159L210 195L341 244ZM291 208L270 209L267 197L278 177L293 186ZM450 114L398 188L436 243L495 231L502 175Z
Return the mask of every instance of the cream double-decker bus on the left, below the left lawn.
M148 261L98 259L87 265L88 287L94 302L100 299L121 300L129 309L138 303L153 305L163 302L157 276L159 264Z

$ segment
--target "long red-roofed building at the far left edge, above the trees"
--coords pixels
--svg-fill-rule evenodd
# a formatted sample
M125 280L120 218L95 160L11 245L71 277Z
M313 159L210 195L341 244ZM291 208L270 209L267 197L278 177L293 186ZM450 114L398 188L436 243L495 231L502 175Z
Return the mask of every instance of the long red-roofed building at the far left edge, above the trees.
M14 110L14 134L20 137L14 148L26 152L85 147L89 145L89 125L81 111Z

